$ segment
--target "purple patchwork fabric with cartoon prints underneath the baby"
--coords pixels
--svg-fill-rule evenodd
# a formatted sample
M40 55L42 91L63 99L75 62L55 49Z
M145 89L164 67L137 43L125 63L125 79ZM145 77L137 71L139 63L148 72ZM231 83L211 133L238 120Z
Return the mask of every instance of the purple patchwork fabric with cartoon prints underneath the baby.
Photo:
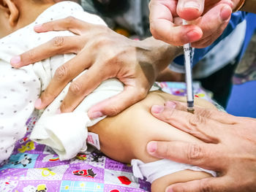
M168 93L184 96L185 84L161 82ZM199 87L196 96L208 98ZM26 123L27 133L15 145L9 161L0 167L0 191L85 191L85 192L142 192L151 184L132 174L132 167L106 157L89 148L69 161L59 161L58 155L45 145L29 139L37 114Z

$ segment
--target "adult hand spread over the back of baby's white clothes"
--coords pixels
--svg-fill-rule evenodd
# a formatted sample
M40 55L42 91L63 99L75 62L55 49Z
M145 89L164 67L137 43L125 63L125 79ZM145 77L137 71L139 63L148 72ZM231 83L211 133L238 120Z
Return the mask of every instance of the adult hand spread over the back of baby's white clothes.
M124 83L124 91L91 107L89 117L116 115L146 97L158 70L164 69L176 54L176 47L164 45L153 37L139 42L116 34L105 26L85 23L72 17L35 26L34 29L37 32L69 30L77 34L74 37L56 37L12 58L12 66L20 67L53 55L77 54L56 70L50 85L36 101L37 109L47 107L68 82L84 69L89 69L71 83L61 104L61 112L74 110L102 81L116 77Z

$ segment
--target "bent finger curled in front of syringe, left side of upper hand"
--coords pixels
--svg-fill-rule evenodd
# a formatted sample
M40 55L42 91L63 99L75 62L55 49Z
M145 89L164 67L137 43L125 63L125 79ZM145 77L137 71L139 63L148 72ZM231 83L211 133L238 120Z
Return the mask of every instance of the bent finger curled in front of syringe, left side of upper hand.
M172 45L184 45L194 42L203 35L197 26L176 26L173 23L173 13L166 4L152 4L150 13L150 29L156 39Z

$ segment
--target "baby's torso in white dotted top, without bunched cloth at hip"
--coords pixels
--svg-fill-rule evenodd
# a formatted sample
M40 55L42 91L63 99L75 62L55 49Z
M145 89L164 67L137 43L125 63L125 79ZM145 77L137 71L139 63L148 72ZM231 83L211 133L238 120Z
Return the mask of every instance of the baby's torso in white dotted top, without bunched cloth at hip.
M26 133L26 120L34 111L34 102L47 87L56 69L74 54L56 55L20 69L10 65L10 59L53 37L73 36L69 31L50 31L37 34L34 26L51 20L73 16L89 23L105 25L96 15L83 12L79 4L63 1L45 10L34 23L0 39L0 163L8 158L14 143ZM10 150L9 150L10 149ZM3 152L2 152L3 150Z

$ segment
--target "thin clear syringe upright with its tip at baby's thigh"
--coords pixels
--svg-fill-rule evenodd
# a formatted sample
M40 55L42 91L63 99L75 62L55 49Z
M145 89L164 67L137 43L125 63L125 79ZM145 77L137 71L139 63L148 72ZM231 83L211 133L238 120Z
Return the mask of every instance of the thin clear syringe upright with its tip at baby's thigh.
M187 21L183 20L183 25L187 25ZM194 114L194 93L192 85L192 47L190 43L183 45L184 59L185 59L185 72L187 83L187 111Z

